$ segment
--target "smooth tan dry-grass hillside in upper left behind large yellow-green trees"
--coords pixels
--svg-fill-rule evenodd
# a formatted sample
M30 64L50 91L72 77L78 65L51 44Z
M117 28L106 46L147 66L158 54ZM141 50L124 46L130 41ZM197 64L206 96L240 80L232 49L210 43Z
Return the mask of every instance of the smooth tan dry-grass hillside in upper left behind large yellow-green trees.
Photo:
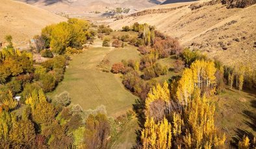
M0 41L10 34L15 46L23 47L43 27L66 18L18 1L0 0L0 20Z

